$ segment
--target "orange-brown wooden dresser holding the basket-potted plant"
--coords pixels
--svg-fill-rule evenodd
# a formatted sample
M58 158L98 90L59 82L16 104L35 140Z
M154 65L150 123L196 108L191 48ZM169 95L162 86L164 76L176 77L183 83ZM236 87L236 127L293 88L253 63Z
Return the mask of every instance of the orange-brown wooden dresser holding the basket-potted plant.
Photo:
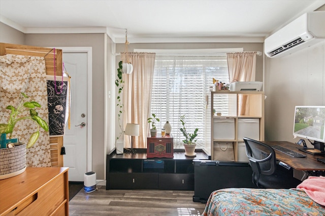
M0 180L0 215L69 215L67 167L27 167Z

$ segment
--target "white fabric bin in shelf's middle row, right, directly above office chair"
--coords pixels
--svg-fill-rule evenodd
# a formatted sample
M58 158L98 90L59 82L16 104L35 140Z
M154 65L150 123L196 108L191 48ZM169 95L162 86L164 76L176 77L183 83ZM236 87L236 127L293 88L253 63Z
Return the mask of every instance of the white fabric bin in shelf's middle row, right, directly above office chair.
M258 118L238 118L238 140L244 137L259 140Z

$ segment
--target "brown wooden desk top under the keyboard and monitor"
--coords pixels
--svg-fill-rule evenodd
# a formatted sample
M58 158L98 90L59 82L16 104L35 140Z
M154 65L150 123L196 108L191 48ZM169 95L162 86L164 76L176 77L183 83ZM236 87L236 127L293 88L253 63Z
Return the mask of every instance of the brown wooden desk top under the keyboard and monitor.
M307 157L291 157L289 155L286 155L282 152L279 152L277 150L275 151L275 156L276 159L279 161L282 161L283 163L288 164L289 166L293 167L294 169L297 170L304 170L304 171L311 171L311 170L320 170L324 171L325 170L325 163L321 163L316 160L316 158L325 158L324 155L312 155L308 154L306 152L300 151L297 149L297 147L302 148L303 146L299 146L295 143L290 143L287 141L264 141L263 143L273 146L273 145L279 145L283 146L287 149L299 152L301 154L307 155Z

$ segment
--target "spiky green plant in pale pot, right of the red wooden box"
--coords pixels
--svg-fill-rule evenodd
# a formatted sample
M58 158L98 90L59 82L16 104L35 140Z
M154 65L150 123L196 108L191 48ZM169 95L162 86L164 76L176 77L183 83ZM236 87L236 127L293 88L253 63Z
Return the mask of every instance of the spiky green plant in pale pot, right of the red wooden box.
M180 122L182 123L183 127L179 128L179 129L183 133L183 136L185 137L185 140L183 140L185 155L190 156L190 157L196 156L197 154L194 151L197 146L197 144L196 144L197 140L194 140L194 139L198 136L199 128L194 129L194 133L190 134L190 133L187 133L187 131L186 131L185 115L182 115L180 117Z

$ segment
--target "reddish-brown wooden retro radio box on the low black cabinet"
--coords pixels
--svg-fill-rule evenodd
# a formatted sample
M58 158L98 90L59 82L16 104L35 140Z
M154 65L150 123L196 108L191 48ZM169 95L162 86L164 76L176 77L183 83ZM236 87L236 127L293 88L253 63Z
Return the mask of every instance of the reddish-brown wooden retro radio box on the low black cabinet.
M161 137L161 134L147 137L147 158L153 157L174 157L174 138L171 134L166 137Z

